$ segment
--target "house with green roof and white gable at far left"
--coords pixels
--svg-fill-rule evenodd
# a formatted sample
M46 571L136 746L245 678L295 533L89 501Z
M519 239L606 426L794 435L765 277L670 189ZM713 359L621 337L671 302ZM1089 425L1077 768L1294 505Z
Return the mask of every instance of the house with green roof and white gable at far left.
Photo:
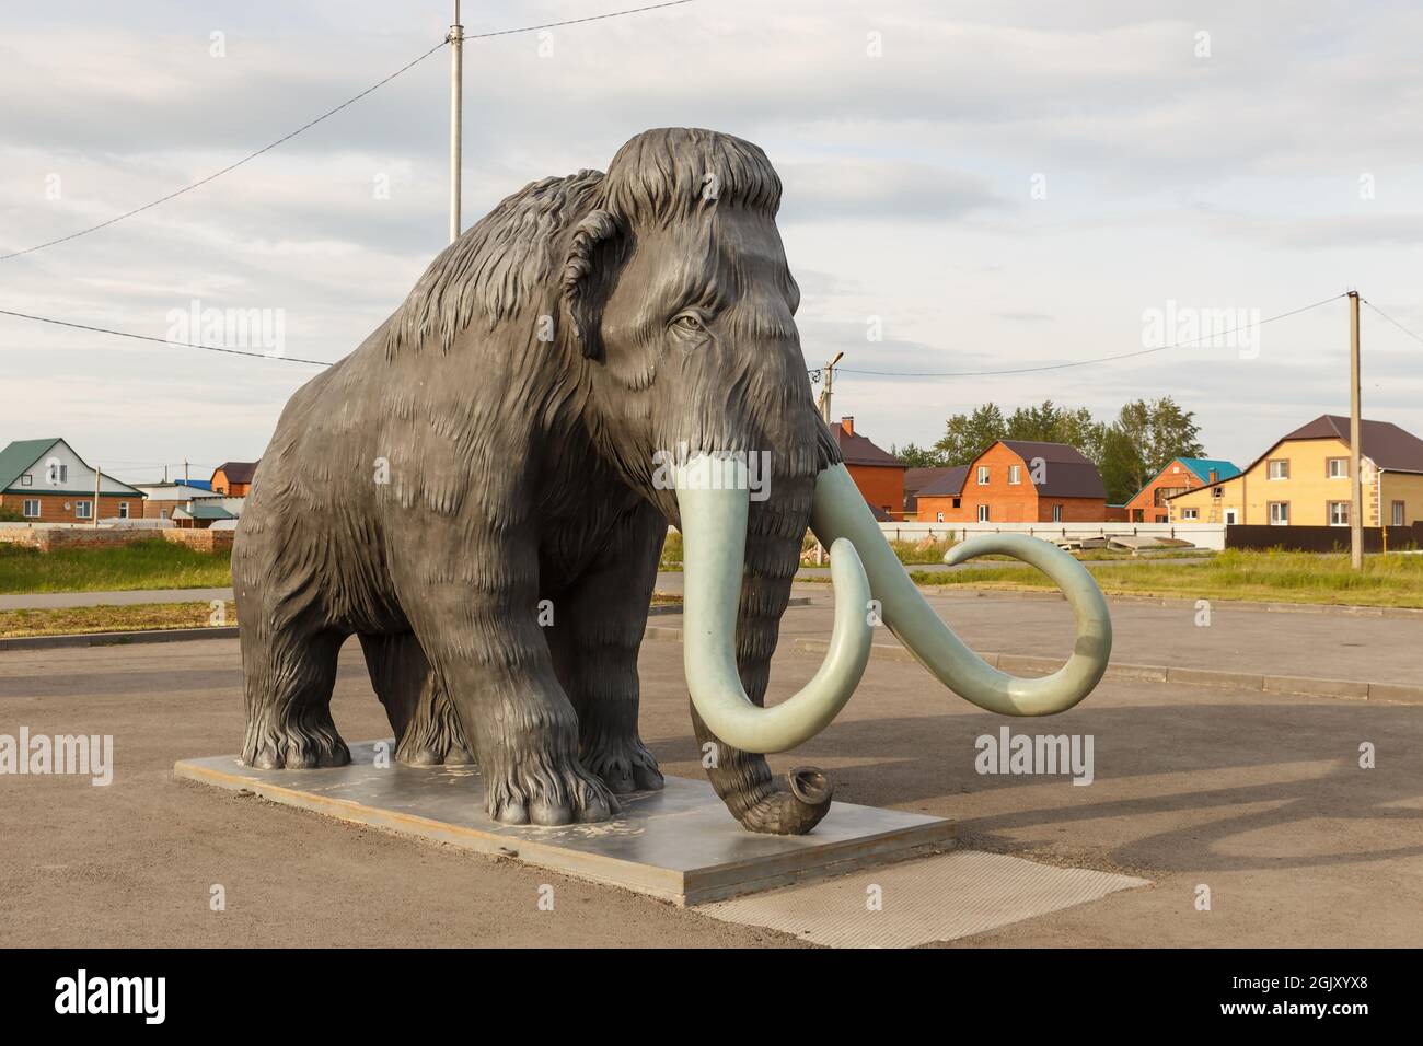
M64 440L16 440L0 451L0 508L26 522L138 519L144 492L94 470Z

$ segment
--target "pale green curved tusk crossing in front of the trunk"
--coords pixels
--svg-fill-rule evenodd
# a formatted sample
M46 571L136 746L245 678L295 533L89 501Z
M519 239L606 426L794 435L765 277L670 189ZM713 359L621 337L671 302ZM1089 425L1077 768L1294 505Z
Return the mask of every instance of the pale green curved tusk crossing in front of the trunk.
M746 464L700 454L676 470L682 514L683 667L697 714L743 751L794 749L830 726L869 662L869 581L854 545L831 546L835 626L830 652L794 697L751 703L736 667L736 615L750 501Z

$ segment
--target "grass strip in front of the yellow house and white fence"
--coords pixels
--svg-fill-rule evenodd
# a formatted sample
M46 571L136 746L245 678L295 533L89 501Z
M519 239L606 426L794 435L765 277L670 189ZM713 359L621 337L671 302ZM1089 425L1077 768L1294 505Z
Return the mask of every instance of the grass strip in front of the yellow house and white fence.
M1032 566L965 568L943 574L912 571L909 576L919 585L1006 591L1056 588ZM1109 595L1423 608L1423 555L1370 555L1365 556L1363 569L1355 572L1348 555L1227 549L1200 566L1100 566L1091 576Z

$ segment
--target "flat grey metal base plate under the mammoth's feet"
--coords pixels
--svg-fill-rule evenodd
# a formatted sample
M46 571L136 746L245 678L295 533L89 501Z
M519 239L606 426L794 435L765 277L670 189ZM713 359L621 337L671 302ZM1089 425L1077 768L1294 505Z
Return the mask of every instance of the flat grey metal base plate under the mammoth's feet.
M667 777L662 791L620 797L603 824L505 825L484 813L474 767L376 766L377 741L320 770L256 770L236 756L181 760L176 777L354 824L448 842L593 882L694 905L938 852L953 823L851 803L831 805L810 835L758 835L727 813L706 781ZM394 741L384 741L394 751Z

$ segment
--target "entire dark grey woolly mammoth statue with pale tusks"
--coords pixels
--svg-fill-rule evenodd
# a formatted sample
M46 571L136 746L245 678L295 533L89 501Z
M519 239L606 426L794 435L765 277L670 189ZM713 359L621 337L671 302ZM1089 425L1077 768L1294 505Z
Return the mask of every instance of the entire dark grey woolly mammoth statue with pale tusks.
M871 601L983 709L1050 714L1096 686L1107 608L1054 546L990 535L951 556L1007 554L1067 593L1076 646L1043 679L990 667L906 576L811 401L780 196L750 142L640 134L606 174L499 204L292 397L232 556L243 763L350 760L330 697L356 633L397 760L478 764L504 823L610 817L616 796L662 786L638 736L638 649L669 521L684 542L692 722L716 746L712 784L751 831L805 833L828 810L822 773L783 784L764 753L805 741L848 700ZM761 460L753 498L739 470ZM831 548L834 630L815 676L767 709L807 528Z

